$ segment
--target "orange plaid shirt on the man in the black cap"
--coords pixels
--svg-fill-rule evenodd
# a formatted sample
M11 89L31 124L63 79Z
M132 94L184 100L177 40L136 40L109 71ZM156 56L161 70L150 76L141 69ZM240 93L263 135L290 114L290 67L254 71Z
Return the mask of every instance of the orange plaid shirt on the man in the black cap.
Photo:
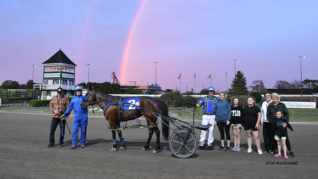
M53 96L50 102L50 110L53 112L53 118L61 118L61 115L66 111L67 106L70 104L68 97L63 95L62 97ZM58 110L59 114L55 114L54 111Z

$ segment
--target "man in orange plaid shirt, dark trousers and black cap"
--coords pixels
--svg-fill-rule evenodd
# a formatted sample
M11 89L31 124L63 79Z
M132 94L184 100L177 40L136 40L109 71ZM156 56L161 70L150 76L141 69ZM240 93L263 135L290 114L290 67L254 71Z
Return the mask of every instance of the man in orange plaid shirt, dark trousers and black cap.
M59 147L63 147L64 133L65 133L65 122L66 120L61 120L61 115L66 111L67 106L70 104L68 97L63 95L63 89L59 87L57 89L57 95L53 96L50 102L50 110L52 111L52 122L50 129L50 144L46 147L54 147L54 133L59 124L60 126L60 139Z

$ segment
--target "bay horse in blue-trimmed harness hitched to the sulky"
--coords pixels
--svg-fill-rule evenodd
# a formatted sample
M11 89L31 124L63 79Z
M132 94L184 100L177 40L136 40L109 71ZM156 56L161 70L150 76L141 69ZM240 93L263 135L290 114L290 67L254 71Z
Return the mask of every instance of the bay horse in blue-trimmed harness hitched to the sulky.
M117 143L116 143L116 129L120 129L120 122L134 120L141 116L144 116L147 120L148 126L148 140L146 145L142 148L142 150L148 150L151 137L155 132L157 141L156 141L156 148L152 153L157 153L158 149L160 149L160 130L157 126L157 117L158 114L168 117L168 106L160 99L152 98L152 97L139 97L140 102L139 106L141 108L134 109L134 110L127 110L121 111L120 110L120 97L112 97L107 95L102 91L95 90L94 87L89 89L89 91L85 95L86 101L82 101L81 106L87 107L89 103L92 103L93 100L100 106L101 109L104 111L104 116L106 120L109 122L110 129L112 131L113 136L113 147L111 151L117 150ZM127 104L126 104L127 105ZM146 111L149 110L149 111ZM163 124L165 123L165 124ZM121 130L117 130L121 147L120 150L125 150L125 142L121 136ZM163 138L168 141L169 139L169 121L162 117L162 135Z

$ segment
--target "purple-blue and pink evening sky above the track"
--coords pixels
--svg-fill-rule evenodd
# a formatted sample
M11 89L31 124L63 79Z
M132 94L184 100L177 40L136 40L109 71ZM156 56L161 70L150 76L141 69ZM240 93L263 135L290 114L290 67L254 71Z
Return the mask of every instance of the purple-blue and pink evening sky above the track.
M142 0L0 2L0 82L32 79L31 65L59 48L77 65L76 84L120 77L128 35ZM263 80L318 79L318 1L148 0L137 20L121 84L155 83L162 89L230 88L236 70L247 85ZM34 68L42 83L43 68Z

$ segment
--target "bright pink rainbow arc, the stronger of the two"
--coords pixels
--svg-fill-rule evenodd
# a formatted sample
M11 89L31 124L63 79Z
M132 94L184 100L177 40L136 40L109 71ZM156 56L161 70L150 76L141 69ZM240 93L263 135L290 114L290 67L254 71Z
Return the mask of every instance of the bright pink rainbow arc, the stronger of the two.
M119 75L119 81L123 84L125 82L125 71L126 71L126 65L127 65L127 60L128 60L128 54L129 54L129 49L130 49L130 45L131 45L131 41L133 39L133 35L138 23L138 20L140 18L140 15L142 13L143 8L145 7L146 3L148 0L142 0L138 11L135 15L134 21L130 27L129 33L128 33L128 38L125 44L125 48L124 48L124 53L122 55L121 58L121 67L120 67L120 75Z

